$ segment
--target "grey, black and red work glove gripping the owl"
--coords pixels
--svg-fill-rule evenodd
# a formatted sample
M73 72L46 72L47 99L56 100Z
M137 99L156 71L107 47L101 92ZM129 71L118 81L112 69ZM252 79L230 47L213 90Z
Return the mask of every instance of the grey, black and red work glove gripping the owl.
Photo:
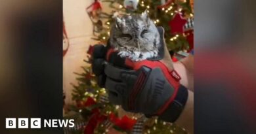
M129 112L175 122L186 104L188 91L179 83L181 78L173 69L163 40L163 28L158 31L161 47L157 58L132 62L120 58L110 45L96 45L93 73L98 76L98 84L106 88L110 102Z

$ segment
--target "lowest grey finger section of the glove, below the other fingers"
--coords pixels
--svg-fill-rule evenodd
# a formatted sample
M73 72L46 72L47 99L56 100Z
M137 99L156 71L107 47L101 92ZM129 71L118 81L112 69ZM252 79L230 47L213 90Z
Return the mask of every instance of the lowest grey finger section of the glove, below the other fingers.
M125 84L116 82L111 78L106 78L106 91L111 103L121 105L123 99L123 92L125 91Z

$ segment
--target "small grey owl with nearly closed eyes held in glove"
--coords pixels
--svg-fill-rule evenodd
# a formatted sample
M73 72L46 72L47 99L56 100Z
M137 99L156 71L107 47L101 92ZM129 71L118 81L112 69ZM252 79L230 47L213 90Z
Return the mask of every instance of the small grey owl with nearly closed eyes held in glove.
M160 34L146 12L116 17L110 31L110 46L121 58L142 61L158 56Z

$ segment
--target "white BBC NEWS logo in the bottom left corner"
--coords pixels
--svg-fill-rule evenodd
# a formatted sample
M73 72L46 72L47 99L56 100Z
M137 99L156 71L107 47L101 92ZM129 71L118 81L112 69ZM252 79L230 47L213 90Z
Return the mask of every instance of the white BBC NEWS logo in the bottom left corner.
M58 120L58 119L50 119L50 120L42 120L43 124L41 124L41 118L5 118L5 128L7 129L40 129L41 125L43 127L74 127L75 120ZM17 127L18 126L18 127Z

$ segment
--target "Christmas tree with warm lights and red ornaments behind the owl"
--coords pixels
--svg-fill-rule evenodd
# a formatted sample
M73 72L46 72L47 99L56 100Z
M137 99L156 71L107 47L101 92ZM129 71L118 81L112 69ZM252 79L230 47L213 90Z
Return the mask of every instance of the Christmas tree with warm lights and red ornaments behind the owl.
M105 0L113 9L111 14L102 12L101 3L95 0L87 12L93 22L95 40L106 44L110 35L110 27L116 14L134 14L147 10L150 18L158 26L165 29L165 42L173 52L191 50L193 42L193 1L188 0ZM87 51L87 63L91 63L93 46ZM113 133L116 129L120 133L186 133L186 130L175 124L163 122L157 118L144 116L119 116L121 107L112 105L104 88L97 85L97 78L91 67L82 67L82 73L77 75L77 84L72 99L75 105L68 105L68 116L74 118L75 127L66 129L68 133Z

